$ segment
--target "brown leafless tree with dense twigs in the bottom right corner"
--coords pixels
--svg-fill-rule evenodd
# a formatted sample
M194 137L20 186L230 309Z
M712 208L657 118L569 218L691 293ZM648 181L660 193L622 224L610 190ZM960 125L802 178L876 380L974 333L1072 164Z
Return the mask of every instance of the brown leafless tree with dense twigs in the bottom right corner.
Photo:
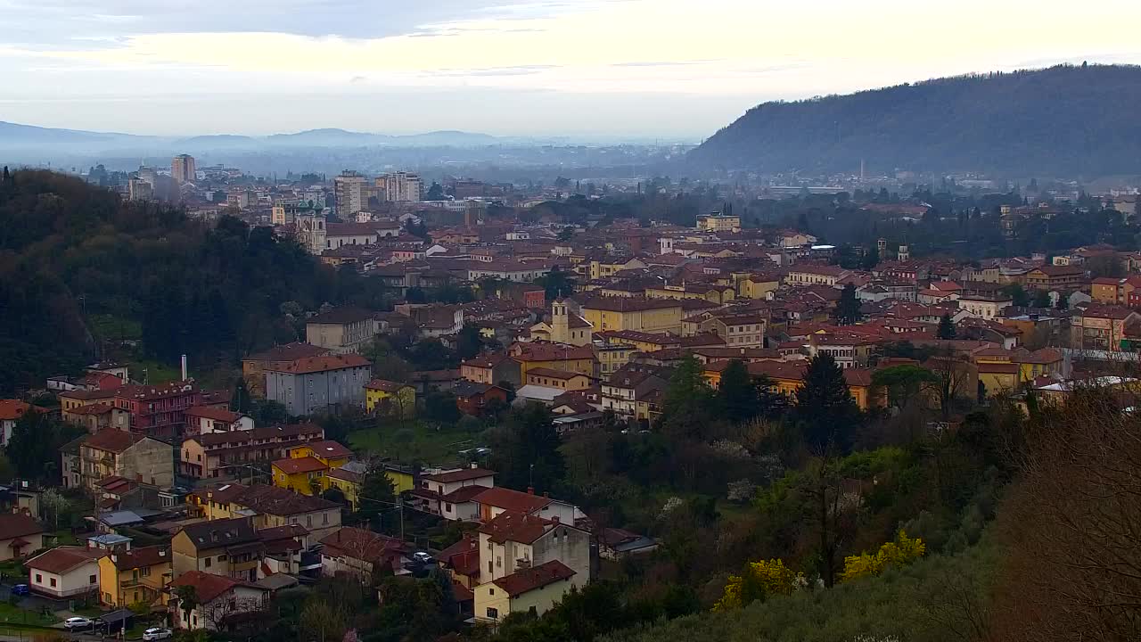
M1001 513L995 640L1141 639L1141 417L1117 391L1042 414Z

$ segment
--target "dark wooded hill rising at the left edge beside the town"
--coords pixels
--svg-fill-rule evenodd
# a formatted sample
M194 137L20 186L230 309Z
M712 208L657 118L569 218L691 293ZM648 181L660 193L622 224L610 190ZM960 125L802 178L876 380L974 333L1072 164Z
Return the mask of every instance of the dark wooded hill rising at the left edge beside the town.
M297 340L305 311L379 296L236 218L210 228L48 171L0 182L0 396L124 339L170 366L183 353L201 368L235 364Z

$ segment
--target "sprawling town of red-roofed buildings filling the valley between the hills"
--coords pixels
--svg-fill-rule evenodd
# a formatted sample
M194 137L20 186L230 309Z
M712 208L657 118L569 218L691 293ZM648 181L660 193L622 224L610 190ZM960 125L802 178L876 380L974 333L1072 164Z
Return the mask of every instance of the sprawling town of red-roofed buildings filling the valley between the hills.
M32 175L5 174L8 190ZM132 331L108 313L99 361L15 379L0 400L13 595L0 628L325 640L353 628L346 609L379 604L374 626L419 627L383 639L434 640L542 618L620 577L674 586L642 607L645 621L677 617L706 602L697 578L720 565L696 553L713 546L703 538L738 555L717 511L760 501L803 457L777 456L779 425L803 432L788 452L891 458L889 444L944 443L1091 386L1125 407L1141 380L1141 252L1108 242L1136 233L1135 191L1000 192L956 211L920 188L802 190L766 206L843 206L891 233L835 243L832 218L762 220L759 196L712 190L717 208L680 222L600 209L629 184L519 192L403 171L273 184L188 155L86 178L135 207L180 203L227 251L296 249L289 260L334 275L329 287L374 296L307 307L283 294L284 327L253 330L245 350L248 327L211 316L215 294L186 307L208 310L194 328L148 308ZM672 190L633 193L683 198ZM938 198L989 198L962 190ZM1019 247L1073 216L1108 231L1025 256L956 255L922 231L986 225ZM283 282L299 270L278 265ZM224 327L221 352L240 354L189 352ZM900 483L876 471L841 474L836 500ZM950 515L986 482L961 483ZM836 557L819 581L841 571L855 572ZM714 609L727 600L729 587Z

